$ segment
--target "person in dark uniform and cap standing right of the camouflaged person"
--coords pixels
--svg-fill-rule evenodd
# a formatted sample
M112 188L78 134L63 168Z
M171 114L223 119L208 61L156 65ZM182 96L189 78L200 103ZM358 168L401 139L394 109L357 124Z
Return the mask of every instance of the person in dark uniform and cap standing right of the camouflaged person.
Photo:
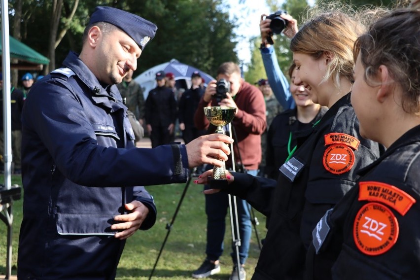
M156 73L156 88L146 99L147 132L152 148L168 144L172 140L176 120L176 101L174 92L165 86L165 72Z

